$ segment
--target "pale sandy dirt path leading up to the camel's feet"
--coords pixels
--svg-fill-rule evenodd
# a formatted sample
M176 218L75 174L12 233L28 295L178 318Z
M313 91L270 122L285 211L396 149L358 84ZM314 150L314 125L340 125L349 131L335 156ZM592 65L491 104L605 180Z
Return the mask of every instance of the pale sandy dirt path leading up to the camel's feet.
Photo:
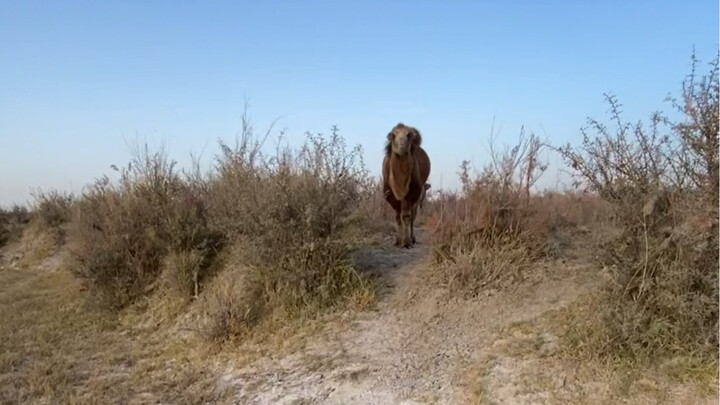
M358 262L389 281L377 309L328 326L302 353L230 373L228 381L238 387L236 400L462 403L472 370L492 357L492 345L505 327L572 302L596 281L586 271L567 268L517 291L459 300L422 283L429 259L424 244L363 252ZM554 344L552 337L548 341Z

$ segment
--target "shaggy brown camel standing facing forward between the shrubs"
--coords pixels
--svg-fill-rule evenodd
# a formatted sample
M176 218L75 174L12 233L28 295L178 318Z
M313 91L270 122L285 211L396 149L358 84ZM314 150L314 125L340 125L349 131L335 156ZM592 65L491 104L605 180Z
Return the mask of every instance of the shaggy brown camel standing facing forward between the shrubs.
M420 147L416 128L397 124L387 135L383 159L383 193L395 210L395 245L410 248L415 243L415 216L430 185L430 158Z

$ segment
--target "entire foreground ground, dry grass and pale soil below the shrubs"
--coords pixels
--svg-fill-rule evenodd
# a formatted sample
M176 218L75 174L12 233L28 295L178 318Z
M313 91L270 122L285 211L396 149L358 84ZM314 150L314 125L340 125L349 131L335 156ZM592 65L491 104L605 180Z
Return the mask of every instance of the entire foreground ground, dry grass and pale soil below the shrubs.
M716 390L629 380L558 355L562 343L540 319L598 288L581 261L539 265L516 287L460 299L426 282L430 256L425 244L358 252L388 282L372 310L326 317L285 344L210 352L167 320L89 316L57 255L23 269L6 251L0 403L718 402Z

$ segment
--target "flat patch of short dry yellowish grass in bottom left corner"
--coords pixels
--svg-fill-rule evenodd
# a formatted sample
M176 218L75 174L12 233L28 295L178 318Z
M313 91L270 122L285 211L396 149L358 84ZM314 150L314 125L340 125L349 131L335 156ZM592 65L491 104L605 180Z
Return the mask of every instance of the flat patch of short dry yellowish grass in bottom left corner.
M89 308L80 289L65 270L0 270L0 402L200 403L223 396L202 347Z

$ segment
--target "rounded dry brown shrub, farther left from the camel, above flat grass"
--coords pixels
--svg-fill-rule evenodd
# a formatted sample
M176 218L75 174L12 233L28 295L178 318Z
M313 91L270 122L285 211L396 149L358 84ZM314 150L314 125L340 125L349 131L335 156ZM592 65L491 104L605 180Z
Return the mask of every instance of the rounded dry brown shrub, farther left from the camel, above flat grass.
M109 307L153 290L166 255L219 245L199 190L163 153L138 150L117 184L103 177L77 201L71 268Z

